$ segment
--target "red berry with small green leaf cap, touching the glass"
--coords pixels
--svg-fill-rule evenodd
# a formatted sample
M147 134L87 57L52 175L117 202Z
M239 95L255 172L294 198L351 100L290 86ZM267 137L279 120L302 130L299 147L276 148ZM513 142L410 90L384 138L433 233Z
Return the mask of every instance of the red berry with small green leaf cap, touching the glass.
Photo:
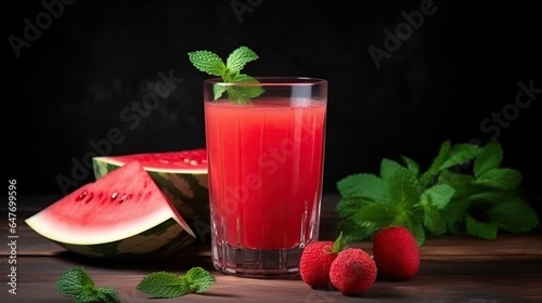
M346 246L341 235L335 241L314 241L304 249L299 260L301 279L312 288L327 288L330 267Z

